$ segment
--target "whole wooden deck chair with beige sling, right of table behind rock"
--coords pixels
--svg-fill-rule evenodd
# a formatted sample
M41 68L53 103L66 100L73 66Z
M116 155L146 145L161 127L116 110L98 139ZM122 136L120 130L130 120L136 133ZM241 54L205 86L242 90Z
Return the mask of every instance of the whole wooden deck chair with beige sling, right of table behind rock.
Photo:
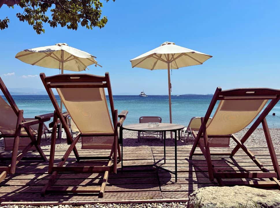
M221 179L258 179L269 178L273 185L280 187L280 183L277 178L280 178L280 169L275 155L275 150L270 137L270 132L266 123L266 116L270 110L276 105L280 99L280 90L268 89L268 88L240 88L232 90L222 90L217 88L212 101L208 107L205 117L201 118L201 127L196 133L192 131L195 142L190 152L190 157L198 155L195 152L197 145L201 149L202 154L206 158L208 165L208 173L210 180L217 179L220 185L223 185ZM268 105L266 103L271 100ZM216 112L210 122L208 122L210 114L212 113L217 101L219 105ZM266 107L265 107L266 106ZM262 111L263 110L263 111ZM257 116L259 117L257 118ZM255 122L251 125L247 133L241 140L238 140L234 133L247 127L255 118ZM255 131L255 129L262 123L264 134L270 157L272 160L273 168L275 172L269 172L264 168L263 164L253 155L253 153L246 148L244 142ZM212 163L211 153L209 148L209 138L232 138L236 143L236 147L229 153L213 153L213 155L229 155L233 157L235 153L241 148L252 161L260 168L262 172L231 172L229 170L223 170L219 168L217 170ZM203 138L205 146L200 144L200 138ZM199 153L200 154L200 153ZM260 186L267 186L271 184L271 181L264 181ZM244 181L243 181L244 182ZM247 182L244 182L246 184ZM257 183L257 182L256 182ZM267 184L265 184L267 183ZM242 183L241 183L242 184ZM229 184L230 185L230 184ZM236 184L235 184L236 185ZM249 184L247 184L249 185Z

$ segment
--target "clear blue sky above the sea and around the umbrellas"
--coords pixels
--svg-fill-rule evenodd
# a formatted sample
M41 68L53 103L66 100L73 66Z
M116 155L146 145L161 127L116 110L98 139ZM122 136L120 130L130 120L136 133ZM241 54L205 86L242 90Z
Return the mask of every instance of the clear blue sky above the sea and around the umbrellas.
M102 0L101 0L102 1ZM239 87L280 88L280 1L170 1L116 0L105 3L108 16L103 29L77 31L45 25L37 35L19 22L18 6L3 5L0 18L10 18L9 28L0 31L0 76L9 88L43 89L38 76L59 73L25 64L14 58L23 49L66 42L97 57L103 66L89 66L97 75L110 73L113 94L167 94L167 70L131 68L130 59L165 41L201 51L213 57L203 65L172 71L172 94L213 93ZM7 73L14 75L4 76Z

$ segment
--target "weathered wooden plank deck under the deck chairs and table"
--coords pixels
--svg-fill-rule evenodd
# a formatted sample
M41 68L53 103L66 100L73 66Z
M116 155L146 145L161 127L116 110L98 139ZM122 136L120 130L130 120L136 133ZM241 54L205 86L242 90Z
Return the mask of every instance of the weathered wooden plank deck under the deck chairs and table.
M272 162L265 147L249 148L264 166L273 171ZM174 147L166 147L166 164L163 167L174 170ZM187 201L188 195L197 188L206 186L217 186L215 180L212 183L208 179L207 164L203 156L194 156L188 159L190 148L178 146L178 182L169 172L149 167L124 168L124 172L118 169L117 174L110 173L103 198L98 198L95 194L75 194L75 193L52 193L45 197L40 196L40 191L46 184L49 174L48 162L39 160L20 161L17 165L16 174L8 175L0 184L1 205L7 204L85 204L85 203L141 203L146 201L172 202ZM226 151L219 148L217 151ZM44 150L48 157L49 150ZM55 163L59 162L65 150L56 151ZM100 150L80 150L80 156L86 155L108 155ZM280 152L276 152L278 161ZM9 156L10 152L1 153ZM38 155L29 153L28 156ZM124 147L124 165L152 164L163 157L163 147ZM228 156L213 156L216 167L227 168L231 171L244 172L257 171L258 167L242 151L230 159ZM75 162L74 154L71 153L66 165L81 165ZM92 164L92 163L91 163ZM120 167L120 164L119 164ZM55 185L69 186L93 186L101 184L103 174L59 174ZM269 179L264 179L269 180ZM230 181L241 181L241 179L228 179ZM255 180L246 183L257 183ZM261 183L261 182L260 182ZM272 184L273 185L273 184ZM276 190L276 187L267 187ZM12 202L12 203L11 203ZM25 203L26 202L26 203Z

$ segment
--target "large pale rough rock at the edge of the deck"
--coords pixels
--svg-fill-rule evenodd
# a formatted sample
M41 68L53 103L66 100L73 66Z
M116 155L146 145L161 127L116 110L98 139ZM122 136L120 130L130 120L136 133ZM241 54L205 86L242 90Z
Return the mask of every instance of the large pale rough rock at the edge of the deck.
M248 186L199 188L189 196L189 208L280 208L280 194Z

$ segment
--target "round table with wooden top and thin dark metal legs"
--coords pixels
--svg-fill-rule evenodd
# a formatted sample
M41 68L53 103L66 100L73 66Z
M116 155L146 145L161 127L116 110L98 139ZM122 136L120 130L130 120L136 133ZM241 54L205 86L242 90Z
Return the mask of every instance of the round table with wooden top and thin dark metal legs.
M163 132L163 145L164 145L164 157L158 161L156 161L152 166L155 166L157 168L160 168L162 170L165 170L167 172L170 172L172 174L175 174L175 182L177 182L177 131L178 136L180 138L180 130L184 129L185 126L180 124L172 124L172 123L159 123L158 126L149 126L149 123L137 123L137 124L130 124L125 125L120 129L120 143L122 144L122 170L123 170L123 129L130 130L130 131L149 131L149 132ZM175 171L167 170L166 168L163 168L161 166L158 166L157 164L164 160L166 160L166 154L165 154L165 139L166 139L166 132L171 131L175 133ZM149 165L150 166L150 165ZM135 166L125 166L125 167L135 167Z

